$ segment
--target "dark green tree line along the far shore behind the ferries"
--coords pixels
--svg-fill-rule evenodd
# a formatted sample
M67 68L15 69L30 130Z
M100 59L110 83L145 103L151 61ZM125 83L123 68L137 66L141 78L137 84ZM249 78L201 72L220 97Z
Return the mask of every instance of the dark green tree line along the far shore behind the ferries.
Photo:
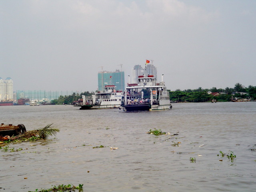
M149 90L144 89L144 98L149 98ZM170 101L173 102L211 102L216 100L218 102L230 102L231 98L250 98L256 100L256 86L249 85L243 86L240 83L236 83L234 88L226 87L225 89L217 89L216 87L210 89L203 89L201 87L197 89L187 89L175 91L168 90L170 92ZM80 94L73 93L71 95L59 96L58 99L51 100L53 105L72 104L75 100L82 98L82 95L91 96L94 92L82 92Z

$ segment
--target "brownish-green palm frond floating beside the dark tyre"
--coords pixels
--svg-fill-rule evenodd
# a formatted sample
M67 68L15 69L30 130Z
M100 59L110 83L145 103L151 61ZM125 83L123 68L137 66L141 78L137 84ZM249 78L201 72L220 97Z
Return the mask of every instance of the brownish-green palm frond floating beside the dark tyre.
M45 139L48 136L56 135L57 132L60 132L59 129L50 128L51 125L52 124L49 124L49 125L45 126L44 128L39 128L39 129L36 129L36 130L27 131L23 134L11 137L10 140L15 140L15 139L19 139L19 138L30 138L32 136Z

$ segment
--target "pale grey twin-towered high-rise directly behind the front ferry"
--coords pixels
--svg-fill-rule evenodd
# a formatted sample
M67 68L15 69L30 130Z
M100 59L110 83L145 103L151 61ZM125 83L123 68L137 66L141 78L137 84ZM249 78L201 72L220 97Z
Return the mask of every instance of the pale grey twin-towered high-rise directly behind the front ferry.
M135 65L134 68L132 68L132 83L136 83L138 80L138 76L143 74L154 75L157 80L157 70L153 64L146 64L145 68L140 65Z

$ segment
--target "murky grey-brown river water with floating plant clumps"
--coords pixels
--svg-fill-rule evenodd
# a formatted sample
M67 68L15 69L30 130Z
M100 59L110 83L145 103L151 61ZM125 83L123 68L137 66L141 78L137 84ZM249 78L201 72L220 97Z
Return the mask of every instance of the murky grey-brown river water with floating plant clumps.
M23 149L17 152L1 149L0 191L59 184L84 184L84 192L255 191L256 102L172 106L152 112L1 106L1 123L27 130L54 123L60 132L8 144ZM146 133L154 128L170 134ZM220 151L236 158L231 162Z

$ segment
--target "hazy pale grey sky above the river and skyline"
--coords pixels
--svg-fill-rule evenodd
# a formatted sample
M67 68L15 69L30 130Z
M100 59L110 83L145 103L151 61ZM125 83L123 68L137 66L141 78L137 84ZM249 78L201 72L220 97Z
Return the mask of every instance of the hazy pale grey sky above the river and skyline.
M0 77L88 90L154 60L170 90L256 86L255 0L0 0Z

